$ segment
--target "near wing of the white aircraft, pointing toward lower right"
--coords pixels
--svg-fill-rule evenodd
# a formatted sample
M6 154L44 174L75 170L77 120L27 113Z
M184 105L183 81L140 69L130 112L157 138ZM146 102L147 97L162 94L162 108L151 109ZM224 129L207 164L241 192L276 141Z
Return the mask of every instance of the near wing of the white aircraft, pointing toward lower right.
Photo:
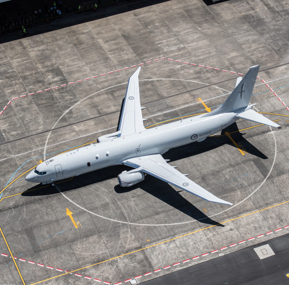
M233 205L227 201L219 199L200 185L192 182L175 168L167 164L163 157L159 154L128 159L123 161L122 164L138 168L142 172L159 178L160 180L199 196L209 202Z

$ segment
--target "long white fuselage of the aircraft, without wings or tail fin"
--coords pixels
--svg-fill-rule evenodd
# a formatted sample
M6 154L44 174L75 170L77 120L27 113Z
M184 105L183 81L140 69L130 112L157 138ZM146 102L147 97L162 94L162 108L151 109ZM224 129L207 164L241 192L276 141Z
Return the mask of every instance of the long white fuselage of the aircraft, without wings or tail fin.
M152 127L127 136L114 137L52 157L37 166L26 177L27 181L52 183L119 165L123 161L153 154L164 154L170 149L200 141L234 123L236 113L213 116L198 115L172 123ZM89 166L88 166L89 165Z

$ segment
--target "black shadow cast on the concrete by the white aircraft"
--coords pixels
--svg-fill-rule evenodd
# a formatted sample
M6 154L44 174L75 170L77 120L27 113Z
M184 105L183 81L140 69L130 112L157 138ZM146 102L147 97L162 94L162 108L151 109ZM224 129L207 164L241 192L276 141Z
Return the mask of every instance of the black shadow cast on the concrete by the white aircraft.
M245 133L240 133L237 127L237 124L234 123L224 129L221 134L225 134L228 131L231 133L231 137L238 143L243 146L246 152L257 156L261 159L267 159L267 157L261 153L257 148L247 141L243 135ZM197 154L202 154L209 150L214 150L222 145L230 144L235 147L232 141L229 139L227 135L224 136L210 136L202 143L193 143L189 145L185 145L182 147L178 147L175 149L171 149L167 153L163 155L165 159L169 159L170 161L176 161L180 159L184 159L187 157L191 157ZM93 171L90 173L86 173L73 179L67 181L60 181L61 183L61 191L66 192L70 190L75 190L78 188L82 188L91 184L99 183L102 181L106 181L112 178L117 177L122 171L131 170L131 168L126 166L113 166L105 169L101 169L98 171ZM156 179L151 176L147 176L145 181L138 183L135 186L129 188L122 188L119 185L115 186L115 191L117 193L125 193L133 191L137 188L141 188L147 193L151 194L155 198L167 203L171 207L181 211L185 215L196 219L202 223L210 224L210 225L220 225L217 221L210 219L206 214L200 211L197 207L188 202L185 198L183 198L178 192L175 191L169 184ZM36 185L25 192L22 193L22 196L44 196L44 195L53 195L58 194L58 190L56 187L52 187L50 185Z

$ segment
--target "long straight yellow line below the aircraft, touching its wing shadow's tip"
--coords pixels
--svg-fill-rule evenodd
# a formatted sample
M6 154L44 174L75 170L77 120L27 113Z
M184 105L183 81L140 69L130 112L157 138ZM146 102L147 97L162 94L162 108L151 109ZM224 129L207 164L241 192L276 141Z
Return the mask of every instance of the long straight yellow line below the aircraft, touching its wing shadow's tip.
M187 236L187 235L196 233L196 232L200 232L200 231L203 231L203 230L206 230L206 229L209 229L209 228L213 228L213 227L216 227L216 226L218 226L218 225L222 225L222 224L225 224L225 223L234 221L234 220L241 219L241 218L246 217L246 216L250 216L250 215L253 215L253 214L262 212L262 211L264 211L264 210L268 210L268 209L270 209L270 208L274 208L274 207L277 207L277 206L286 204L286 203L288 203L288 202L289 202L289 200L286 201L286 202L279 203L279 204L277 204L277 205L273 205L273 206L264 208L264 209L262 209L262 210L257 210L257 211L255 211L255 212L252 212L252 213L249 213L249 214L245 214L245 215L242 215L242 216L237 217L237 218L230 219L230 220L225 221L225 222L221 222L221 223L219 223L219 224L217 224L217 225L212 225L212 226L209 226L209 227L206 227L206 228L203 228L203 229L199 229L199 230L196 230L196 231L193 231L193 232L189 232L189 233L183 234L183 235L181 235L181 236L177 236L177 237L174 237L174 238L171 238L171 239L168 239L168 240L165 240L165 241L162 241L162 242L153 244L153 245L149 245L149 246L147 246L147 247L144 247L144 248L141 248L141 249L137 249L137 250L134 250L134 251L131 251L131 252L128 252L128 253L125 253L125 254L122 254L122 255L119 255L119 256L116 256L116 257L113 257L113 258L110 258L110 259L107 259L107 260L104 260L104 261L101 261L101 262L98 262L98 263L94 263L94 264L91 264L91 265L87 265L87 266L84 266L84 267L82 267L82 268L78 268L78 269L69 271L69 272L67 272L67 273L63 273L63 274L60 274L60 275L57 275L57 276L54 276L54 277L50 277L50 278L47 278L47 279L45 279L45 280L41 280L41 281L32 283L32 284L30 284L30 285L38 284L38 283L41 283L41 282L44 282L44 281L47 281L47 280L51 280L51 279L54 279L54 278L57 278L57 277L60 277L60 276L63 276L63 275L69 274L69 273L73 273L73 272L76 272L76 271L79 271L79 270L82 270L82 269L85 269L85 268L94 266L94 265L98 265L98 264L101 264L101 263L104 263L104 262L107 262L107 261L110 261L110 260L117 259L117 258L120 258L120 257L122 257L122 256L126 256L126 255L129 255L129 254L138 252L138 251L142 251L142 250L145 250L145 249L150 248L150 247L154 247L154 246L159 245L159 244L162 244L162 243L166 243L166 242L169 242L169 241L172 241L172 240L175 240L175 239L178 239L178 238L181 238L181 237L184 237L184 236Z

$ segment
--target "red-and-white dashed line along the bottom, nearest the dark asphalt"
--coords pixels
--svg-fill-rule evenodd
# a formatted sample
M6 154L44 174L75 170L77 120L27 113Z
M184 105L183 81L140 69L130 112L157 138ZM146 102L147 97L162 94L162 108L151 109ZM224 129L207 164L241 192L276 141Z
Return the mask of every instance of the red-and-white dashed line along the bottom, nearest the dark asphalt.
M215 249L215 250L212 250L210 252L206 252L206 253L203 253L203 254L200 254L200 255L197 255L195 257L191 257L191 258L188 258L188 259L185 259L185 260L182 260L182 261L178 261L178 262L175 262L173 264L170 264L170 265L166 265L166 266L163 266L162 268L158 268L158 269L155 269L153 271L150 271L150 272L147 272L147 273L144 273L144 274L140 274L140 275L136 275L135 277L131 277L131 278L128 278L124 281L119 281L119 282L116 282L116 283L111 283L109 281L104 281L102 279L99 279L99 278L94 278L94 277L90 277L90 276L86 276L84 274L79 274L79 273L74 273L75 270L73 270L73 275L74 276L77 276L77 277L84 277L85 279L89 279L89 280L94 280L94 281L98 281L98 282L103 282L104 284L114 284L114 285L119 285L119 284L122 284L123 282L128 282L128 281L131 281L133 279L137 279L137 278L141 278L142 276L147 276L147 275L150 275L152 273L157 273L159 271L162 271L162 270L165 270L165 269L168 269L168 268L171 268L171 267L174 267L174 266L177 266L177 265L181 265L183 263L186 263L186 262L189 262L189 261L192 261L192 260L196 260L196 259L199 259L201 257L205 257L207 255L212 255L216 252L219 252L219 250L225 250L225 249L229 249L231 247L234 247L234 246L237 246L237 245L240 245L242 243L245 243L245 242L248 242L248 241L251 241L251 240L254 240L254 239L259 239L261 237L265 237L265 236L268 236L272 233L275 233L275 232L278 232L278 231L281 231L281 230L285 230L285 229L289 229L289 225L287 226L284 226L284 227L280 227L280 228L277 228L275 230L272 230L272 231L269 231L269 232L266 232L266 233L263 233L263 234L259 234L259 235L256 235L256 236L253 236L253 237L250 237L250 238L247 238L246 240L241 240L239 242L236 242L236 243L233 243L233 244L230 244L230 245L227 245L227 246L223 246L223 247L220 247L218 249ZM249 245L249 244L248 244ZM4 256L4 257L8 257L8 258L12 258L12 256L9 256L9 254L6 254L6 253L1 253L1 256ZM54 267L54 266L50 266L50 265L44 265L42 263L38 263L36 261L31 261L31 260L28 260L28 259L24 259L24 258L20 258L20 257L16 257L16 256L13 256L14 259L18 259L19 261L22 261L22 262L27 262L29 264L32 264L32 265L35 265L35 266L40 266L40 267L45 267L45 268L48 268L48 269L52 269L52 270L56 270L56 271L59 271L59 272L63 272L64 274L72 274L72 272L70 272L69 270L64 270L64 269L60 269L58 267ZM62 275L64 275L62 274Z

